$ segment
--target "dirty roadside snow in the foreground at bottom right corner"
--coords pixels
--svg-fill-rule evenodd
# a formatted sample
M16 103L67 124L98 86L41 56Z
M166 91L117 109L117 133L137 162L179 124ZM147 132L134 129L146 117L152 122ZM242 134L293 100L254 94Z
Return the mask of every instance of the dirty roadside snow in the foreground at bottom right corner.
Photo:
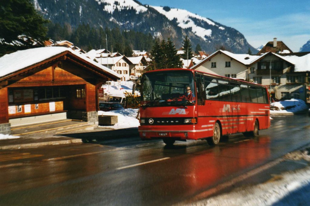
M308 152L296 151L285 159L310 161ZM277 175L255 186L240 187L229 193L200 200L191 205L309 205L310 167Z

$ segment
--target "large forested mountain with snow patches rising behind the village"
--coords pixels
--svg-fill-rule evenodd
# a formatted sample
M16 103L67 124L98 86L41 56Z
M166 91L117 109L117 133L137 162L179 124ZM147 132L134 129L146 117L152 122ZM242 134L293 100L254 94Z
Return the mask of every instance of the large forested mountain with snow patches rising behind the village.
M71 28L89 24L96 28L135 30L160 40L170 38L176 48L182 46L188 35L193 48L200 44L207 53L223 47L234 53L247 53L249 48L256 53L236 29L183 9L142 5L136 0L33 0L33 3L45 18Z

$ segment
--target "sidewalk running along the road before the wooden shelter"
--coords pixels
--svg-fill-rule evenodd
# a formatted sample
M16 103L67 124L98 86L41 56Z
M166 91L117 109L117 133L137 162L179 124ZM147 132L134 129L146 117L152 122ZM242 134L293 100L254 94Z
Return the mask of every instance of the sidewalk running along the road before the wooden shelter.
M93 139L116 139L138 136L138 128L112 130L108 128L95 128L90 132L68 132L61 135L22 135L16 139L0 140L0 150L15 150L29 147L82 143Z

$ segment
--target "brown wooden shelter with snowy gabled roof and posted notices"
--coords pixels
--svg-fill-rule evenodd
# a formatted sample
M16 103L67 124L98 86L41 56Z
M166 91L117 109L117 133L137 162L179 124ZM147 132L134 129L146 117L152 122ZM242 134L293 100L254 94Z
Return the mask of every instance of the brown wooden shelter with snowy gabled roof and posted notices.
M57 119L98 124L98 88L119 75L65 47L40 47L0 58L0 133Z

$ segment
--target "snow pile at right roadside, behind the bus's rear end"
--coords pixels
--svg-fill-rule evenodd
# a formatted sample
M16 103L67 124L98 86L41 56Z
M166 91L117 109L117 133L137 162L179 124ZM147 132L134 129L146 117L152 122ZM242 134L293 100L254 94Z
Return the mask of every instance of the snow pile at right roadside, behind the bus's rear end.
M270 109L270 114L279 113L277 111L281 111L281 113L296 113L308 109L308 106L303 100L290 99L285 101L273 102L270 104Z

